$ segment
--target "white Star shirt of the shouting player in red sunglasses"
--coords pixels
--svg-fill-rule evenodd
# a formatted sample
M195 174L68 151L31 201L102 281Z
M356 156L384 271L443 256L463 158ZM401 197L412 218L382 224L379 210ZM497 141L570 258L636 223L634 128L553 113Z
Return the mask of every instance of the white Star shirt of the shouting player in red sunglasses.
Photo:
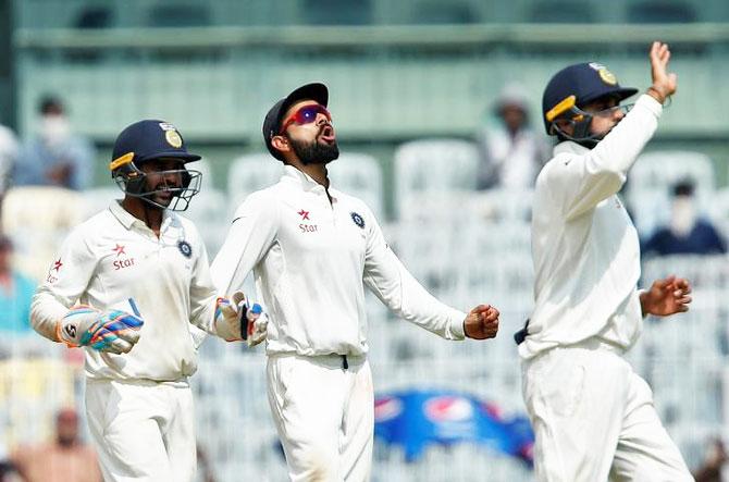
M254 270L270 322L267 353L362 355L367 286L390 309L448 339L464 338L466 313L431 296L390 249L369 208L287 165L279 184L235 213L212 263L221 293Z

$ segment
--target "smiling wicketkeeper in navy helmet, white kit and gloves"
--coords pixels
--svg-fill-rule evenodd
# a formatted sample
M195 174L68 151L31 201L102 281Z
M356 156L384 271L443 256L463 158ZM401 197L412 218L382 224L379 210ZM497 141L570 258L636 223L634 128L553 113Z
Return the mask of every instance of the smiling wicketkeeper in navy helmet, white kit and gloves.
M237 300L215 296L199 233L173 212L199 190L200 173L185 169L198 159L168 122L126 127L109 165L124 199L73 230L33 299L38 333L84 347L107 482L194 479L190 323L242 339Z

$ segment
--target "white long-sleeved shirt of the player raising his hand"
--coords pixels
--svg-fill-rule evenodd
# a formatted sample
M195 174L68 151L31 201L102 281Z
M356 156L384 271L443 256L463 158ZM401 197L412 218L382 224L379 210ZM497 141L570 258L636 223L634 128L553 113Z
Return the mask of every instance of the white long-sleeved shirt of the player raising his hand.
M595 148L560 143L542 169L532 211L535 306L522 358L593 336L628 349L640 335L640 245L617 193L660 113L643 95Z

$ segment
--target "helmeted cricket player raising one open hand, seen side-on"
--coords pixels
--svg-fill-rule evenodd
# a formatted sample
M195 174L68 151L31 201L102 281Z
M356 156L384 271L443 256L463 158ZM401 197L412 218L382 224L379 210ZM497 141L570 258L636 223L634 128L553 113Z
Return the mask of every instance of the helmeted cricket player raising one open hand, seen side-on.
M559 144L536 181L535 306L517 336L540 481L693 480L651 388L622 358L643 317L691 301L675 276L637 289L638 234L617 197L676 91L669 58L667 45L653 44L653 84L630 112L620 101L638 90L598 63L570 65L544 90L546 129Z

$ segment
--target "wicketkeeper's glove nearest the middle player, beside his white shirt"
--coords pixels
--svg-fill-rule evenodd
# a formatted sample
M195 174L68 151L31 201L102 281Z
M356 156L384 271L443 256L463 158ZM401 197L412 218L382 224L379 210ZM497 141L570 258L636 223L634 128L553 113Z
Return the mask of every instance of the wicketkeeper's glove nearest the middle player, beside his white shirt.
M227 342L245 339L248 346L256 346L265 339L268 316L259 304L249 305L242 292L232 299L218 298L215 307L215 330Z

